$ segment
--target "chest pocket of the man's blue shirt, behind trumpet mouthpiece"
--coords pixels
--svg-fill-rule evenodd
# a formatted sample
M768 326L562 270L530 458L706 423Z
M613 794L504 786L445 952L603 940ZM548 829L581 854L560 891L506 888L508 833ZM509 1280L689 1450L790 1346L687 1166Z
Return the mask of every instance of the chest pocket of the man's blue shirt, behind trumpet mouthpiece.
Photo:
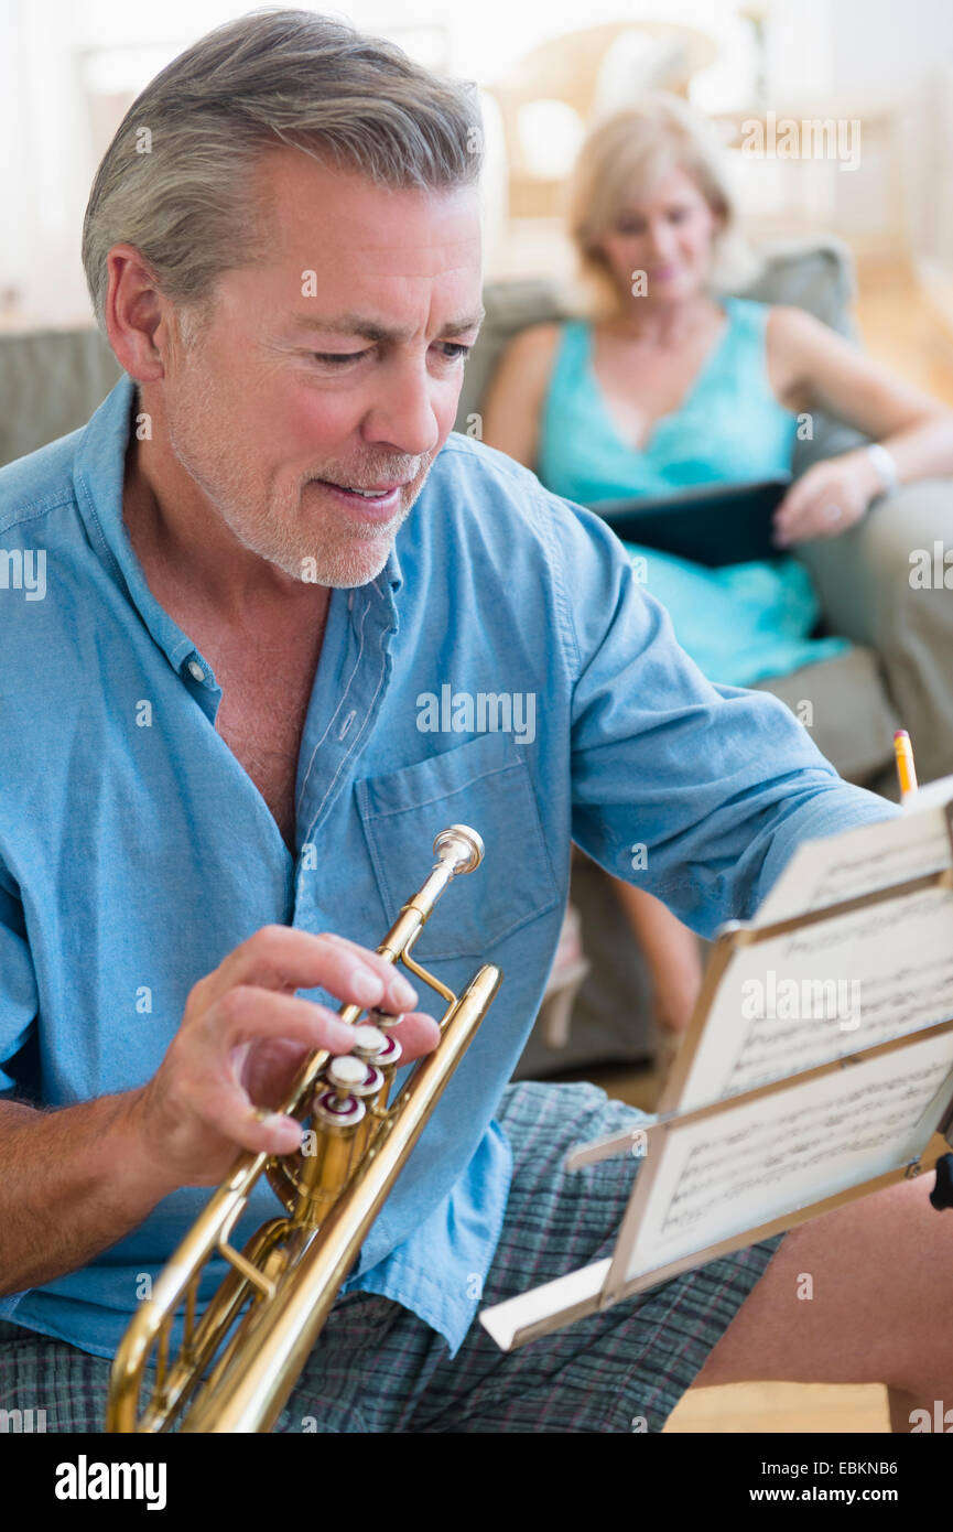
M440 830L469 824L483 836L483 863L452 881L420 935L421 964L483 958L559 904L529 766L509 734L365 777L355 794L389 924L427 876Z

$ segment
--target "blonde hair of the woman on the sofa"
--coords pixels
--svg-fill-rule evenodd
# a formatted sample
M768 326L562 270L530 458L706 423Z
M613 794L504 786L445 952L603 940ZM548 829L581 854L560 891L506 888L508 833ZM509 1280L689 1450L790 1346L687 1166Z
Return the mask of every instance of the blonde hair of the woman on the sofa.
M634 190L648 192L671 170L693 176L719 218L709 286L740 286L757 274L760 264L737 228L725 150L716 130L680 97L653 92L590 129L570 176L568 233L584 306L617 309L619 290L599 241Z

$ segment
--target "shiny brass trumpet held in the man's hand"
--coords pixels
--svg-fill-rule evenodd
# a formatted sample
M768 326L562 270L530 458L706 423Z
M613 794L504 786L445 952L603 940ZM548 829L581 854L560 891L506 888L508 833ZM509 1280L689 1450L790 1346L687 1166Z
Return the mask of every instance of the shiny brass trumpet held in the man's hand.
M199 1432L273 1429L368 1229L499 987L499 968L484 965L455 996L411 958L450 879L483 861L483 841L466 824L454 824L434 841L434 855L429 878L377 951L403 962L446 1000L437 1048L388 1105L400 1062L389 1028L398 1017L371 1011L371 1023L362 1026L362 1007L340 1007L340 1019L355 1026L354 1051L311 1054L279 1108L309 1120L302 1151L280 1157L247 1151L234 1161L123 1337L112 1365L107 1431L161 1432L176 1422ZM285 1213L239 1252L230 1235L262 1174ZM196 1318L202 1268L216 1253L230 1270ZM181 1307L184 1337L170 1360ZM153 1353L155 1379L141 1403Z

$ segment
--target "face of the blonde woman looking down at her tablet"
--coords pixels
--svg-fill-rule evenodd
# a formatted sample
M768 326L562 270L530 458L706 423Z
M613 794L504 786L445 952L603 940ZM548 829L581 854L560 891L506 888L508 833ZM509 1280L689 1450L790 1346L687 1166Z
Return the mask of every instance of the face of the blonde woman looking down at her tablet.
M705 288L719 224L694 178L670 170L625 199L599 244L627 300L679 303ZM645 280L633 294L640 271Z

